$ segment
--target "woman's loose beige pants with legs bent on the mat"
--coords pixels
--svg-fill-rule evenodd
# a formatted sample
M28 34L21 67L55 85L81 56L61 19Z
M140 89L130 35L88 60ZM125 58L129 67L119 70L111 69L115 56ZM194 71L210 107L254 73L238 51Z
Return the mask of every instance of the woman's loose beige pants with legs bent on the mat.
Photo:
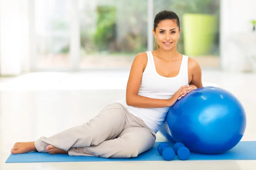
M154 146L155 133L119 103L106 106L89 122L35 141L38 152L51 144L70 156L136 157Z

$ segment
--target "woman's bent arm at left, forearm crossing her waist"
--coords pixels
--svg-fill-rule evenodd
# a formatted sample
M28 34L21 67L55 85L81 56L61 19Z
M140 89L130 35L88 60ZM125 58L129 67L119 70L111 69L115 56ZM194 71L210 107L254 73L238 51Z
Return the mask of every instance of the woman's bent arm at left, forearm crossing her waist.
M138 108L161 108L174 105L177 100L175 100L175 97L171 99L152 99L138 95L147 61L146 53L140 53L134 59L126 87L126 104Z

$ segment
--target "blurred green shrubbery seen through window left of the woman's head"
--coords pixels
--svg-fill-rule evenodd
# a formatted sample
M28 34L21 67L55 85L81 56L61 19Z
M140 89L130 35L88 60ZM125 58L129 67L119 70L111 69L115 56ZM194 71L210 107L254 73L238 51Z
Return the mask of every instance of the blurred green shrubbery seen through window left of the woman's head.
M96 25L82 20L81 53L137 54L147 50L147 0L108 0L108 5L96 9L85 10Z

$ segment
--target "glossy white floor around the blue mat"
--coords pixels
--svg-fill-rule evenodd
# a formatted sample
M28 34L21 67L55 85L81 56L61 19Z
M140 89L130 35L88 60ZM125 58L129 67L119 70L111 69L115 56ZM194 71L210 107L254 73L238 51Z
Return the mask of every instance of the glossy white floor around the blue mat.
M15 142L33 141L80 125L109 102L125 96L128 71L31 73L0 81L0 170L181 169L255 170L256 161L135 161L9 163ZM0 79L1 80L1 79ZM204 86L232 92L244 105L247 129L242 140L256 140L256 74L203 71ZM157 141L165 139L157 134Z

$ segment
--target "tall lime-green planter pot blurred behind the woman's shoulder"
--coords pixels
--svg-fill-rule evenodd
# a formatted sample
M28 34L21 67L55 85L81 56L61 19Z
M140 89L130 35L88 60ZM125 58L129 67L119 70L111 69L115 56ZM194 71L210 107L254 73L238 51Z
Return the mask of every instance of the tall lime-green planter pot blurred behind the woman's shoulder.
M217 17L209 14L183 14L184 52L187 56L209 54L214 45Z

